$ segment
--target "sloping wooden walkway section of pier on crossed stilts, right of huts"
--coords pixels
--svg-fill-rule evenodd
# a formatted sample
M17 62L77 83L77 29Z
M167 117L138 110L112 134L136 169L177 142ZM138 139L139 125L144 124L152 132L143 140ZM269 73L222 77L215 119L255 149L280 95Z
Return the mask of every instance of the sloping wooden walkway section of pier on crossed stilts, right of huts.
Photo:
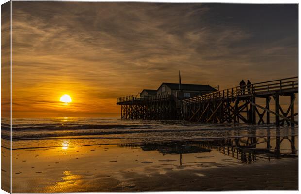
M298 93L298 77L251 84L242 90L239 86L182 101L183 120L201 123L251 123L270 124L270 114L275 115L276 126L297 124L294 102ZM280 97L289 96L290 105L285 111ZM265 107L256 103L264 98ZM271 99L275 111L271 111Z

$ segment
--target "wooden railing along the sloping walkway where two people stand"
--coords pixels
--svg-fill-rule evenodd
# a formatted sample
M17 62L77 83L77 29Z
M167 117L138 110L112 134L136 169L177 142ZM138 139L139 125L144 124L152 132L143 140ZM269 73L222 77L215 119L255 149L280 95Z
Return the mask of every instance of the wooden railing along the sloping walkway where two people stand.
M224 98L236 98L243 96L250 96L253 94L260 93L271 93L279 91L280 93L287 90L298 90L298 77L285 78L280 80L265 81L259 83L253 83L251 85L246 85L245 88L236 86L233 88L209 93L199 97L193 97L183 100L183 104L195 103L207 99L224 99Z

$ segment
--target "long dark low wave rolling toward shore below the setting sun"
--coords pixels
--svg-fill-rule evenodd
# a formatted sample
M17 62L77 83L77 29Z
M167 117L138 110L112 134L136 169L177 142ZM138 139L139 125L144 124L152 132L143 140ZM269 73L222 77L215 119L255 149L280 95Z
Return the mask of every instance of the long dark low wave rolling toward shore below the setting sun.
M119 127L119 128L118 128ZM126 128L125 128L126 127ZM220 133L220 131L241 131L241 130L252 130L252 129L274 129L271 126L233 126L233 127L207 127L203 128L200 126L165 126L165 127L155 127L153 125L82 125L74 127L54 127L47 126L47 130L50 131L40 131L45 130L44 127L30 127L24 128L22 130L13 130L12 140L37 140L46 138L91 138L97 139L97 136L103 136L103 138L108 138L107 135L120 135L120 134L138 134L143 136L146 135L160 135L166 136L170 133L177 133L179 135L205 135L207 133L214 134ZM81 129L81 130L80 130ZM54 131L51 131L54 130ZM223 132L224 133L224 132ZM148 136L149 136L148 135ZM84 137L89 136L89 137ZM10 133L2 133L2 138L10 140ZM132 138L132 137L131 137Z

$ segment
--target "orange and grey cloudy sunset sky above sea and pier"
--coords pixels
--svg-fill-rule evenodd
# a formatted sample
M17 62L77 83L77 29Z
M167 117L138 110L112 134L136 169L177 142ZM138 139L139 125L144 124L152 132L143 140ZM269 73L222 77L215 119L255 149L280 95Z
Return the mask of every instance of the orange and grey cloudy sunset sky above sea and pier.
M179 70L220 89L297 76L297 9L13 1L13 117L118 116L117 97L177 83Z

